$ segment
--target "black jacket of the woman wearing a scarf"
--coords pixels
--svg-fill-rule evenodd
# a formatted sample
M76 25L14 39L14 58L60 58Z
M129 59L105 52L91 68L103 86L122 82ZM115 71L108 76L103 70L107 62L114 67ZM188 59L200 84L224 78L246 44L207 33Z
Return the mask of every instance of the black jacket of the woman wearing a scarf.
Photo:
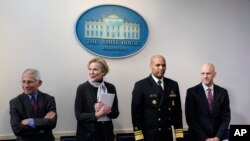
M111 113L108 114L109 118L114 119L119 115L116 89L113 84L108 82L104 82L104 84L108 93L115 94ZM105 130L99 132L99 122L97 122L95 117L94 109L96 102L97 88L93 87L88 81L80 84L77 88L75 98L75 116L77 119L76 138L78 141L104 141L105 139L97 139L98 137L101 137L100 134L107 136L107 138L109 138L108 140L114 140L112 121L105 122L102 125L105 126Z

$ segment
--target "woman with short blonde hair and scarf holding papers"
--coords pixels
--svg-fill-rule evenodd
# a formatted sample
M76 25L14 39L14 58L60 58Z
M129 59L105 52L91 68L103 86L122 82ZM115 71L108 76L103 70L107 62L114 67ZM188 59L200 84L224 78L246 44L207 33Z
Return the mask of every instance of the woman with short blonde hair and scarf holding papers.
M119 115L116 88L104 81L109 68L102 58L93 58L88 63L89 80L80 84L75 98L77 141L114 141L113 123ZM100 101L102 94L114 94L112 106Z

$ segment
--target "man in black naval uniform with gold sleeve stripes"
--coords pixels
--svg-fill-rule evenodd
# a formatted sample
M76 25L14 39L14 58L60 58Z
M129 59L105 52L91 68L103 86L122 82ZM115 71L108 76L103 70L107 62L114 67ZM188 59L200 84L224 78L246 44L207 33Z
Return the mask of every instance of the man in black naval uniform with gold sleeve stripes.
M154 55L150 63L151 75L135 83L132 92L132 123L135 140L182 140L182 110L179 86L164 77L166 61ZM161 81L160 83L158 83Z

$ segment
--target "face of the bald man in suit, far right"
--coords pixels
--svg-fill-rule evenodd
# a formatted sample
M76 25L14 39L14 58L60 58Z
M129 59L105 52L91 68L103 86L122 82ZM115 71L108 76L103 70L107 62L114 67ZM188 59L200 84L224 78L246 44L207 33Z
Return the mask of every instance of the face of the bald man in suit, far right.
M210 87L213 84L213 79L216 75L215 68L211 64L204 64L201 67L201 81L206 86Z

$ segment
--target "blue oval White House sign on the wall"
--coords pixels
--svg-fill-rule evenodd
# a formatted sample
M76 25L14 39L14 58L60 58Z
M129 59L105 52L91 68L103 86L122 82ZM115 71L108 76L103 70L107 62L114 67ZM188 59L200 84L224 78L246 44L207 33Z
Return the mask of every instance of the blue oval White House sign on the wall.
M118 5L100 5L79 17L76 36L93 54L124 58L143 49L148 39L148 26L134 10Z

